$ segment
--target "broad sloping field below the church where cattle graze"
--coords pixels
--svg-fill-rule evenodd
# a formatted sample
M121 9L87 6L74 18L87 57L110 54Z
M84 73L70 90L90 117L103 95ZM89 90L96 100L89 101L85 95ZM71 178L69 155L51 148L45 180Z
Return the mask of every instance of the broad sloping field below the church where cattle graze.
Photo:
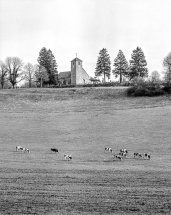
M16 152L17 145L31 153ZM105 147L116 154L126 148L128 157L114 160ZM169 96L1 90L0 148L1 215L171 214ZM134 152L151 159L134 159Z

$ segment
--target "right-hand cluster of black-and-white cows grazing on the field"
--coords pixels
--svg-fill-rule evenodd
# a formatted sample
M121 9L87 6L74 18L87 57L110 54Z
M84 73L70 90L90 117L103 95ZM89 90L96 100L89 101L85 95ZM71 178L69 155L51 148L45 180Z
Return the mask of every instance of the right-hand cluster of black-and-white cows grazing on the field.
M105 148L105 152L110 152L113 153L112 148ZM122 160L122 158L126 158L128 155L128 150L127 149L120 149L118 154L113 154L114 155L114 159L117 160ZM139 152L134 152L134 158L144 158L144 159L148 159L150 160L150 154L148 153L139 153Z

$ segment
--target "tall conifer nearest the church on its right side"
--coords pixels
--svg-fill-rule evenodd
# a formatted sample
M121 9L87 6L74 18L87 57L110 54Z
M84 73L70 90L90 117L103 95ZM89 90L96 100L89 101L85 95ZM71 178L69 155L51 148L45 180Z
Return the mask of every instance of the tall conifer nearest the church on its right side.
M110 73L111 73L111 62L110 62L110 56L107 53L107 49L103 48L99 52L99 57L97 59L97 64L96 64L96 71L95 71L95 76L101 76L104 75L104 82L106 81L106 76L110 78Z

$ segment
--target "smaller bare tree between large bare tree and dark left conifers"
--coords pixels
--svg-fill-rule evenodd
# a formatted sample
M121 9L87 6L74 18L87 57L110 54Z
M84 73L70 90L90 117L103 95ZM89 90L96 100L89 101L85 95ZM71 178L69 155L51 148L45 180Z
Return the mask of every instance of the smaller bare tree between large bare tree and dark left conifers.
M24 66L24 79L28 81L29 88L32 86L32 82L35 80L35 72L37 70L37 65L33 65L31 63L27 63Z

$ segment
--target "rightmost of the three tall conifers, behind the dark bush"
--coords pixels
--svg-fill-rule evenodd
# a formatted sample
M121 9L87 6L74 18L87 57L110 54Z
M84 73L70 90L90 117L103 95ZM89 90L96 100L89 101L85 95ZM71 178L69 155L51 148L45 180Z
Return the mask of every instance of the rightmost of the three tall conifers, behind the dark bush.
M140 47L133 50L131 55L130 67L129 67L129 77L130 79L134 77L148 77L147 61L145 59L144 53Z

